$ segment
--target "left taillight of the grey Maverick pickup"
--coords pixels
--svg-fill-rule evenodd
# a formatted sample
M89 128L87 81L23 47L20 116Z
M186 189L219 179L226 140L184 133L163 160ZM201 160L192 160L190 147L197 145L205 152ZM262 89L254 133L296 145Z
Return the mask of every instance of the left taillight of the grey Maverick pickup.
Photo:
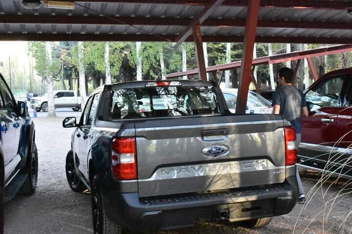
M111 169L116 179L137 179L137 153L134 137L112 140Z

